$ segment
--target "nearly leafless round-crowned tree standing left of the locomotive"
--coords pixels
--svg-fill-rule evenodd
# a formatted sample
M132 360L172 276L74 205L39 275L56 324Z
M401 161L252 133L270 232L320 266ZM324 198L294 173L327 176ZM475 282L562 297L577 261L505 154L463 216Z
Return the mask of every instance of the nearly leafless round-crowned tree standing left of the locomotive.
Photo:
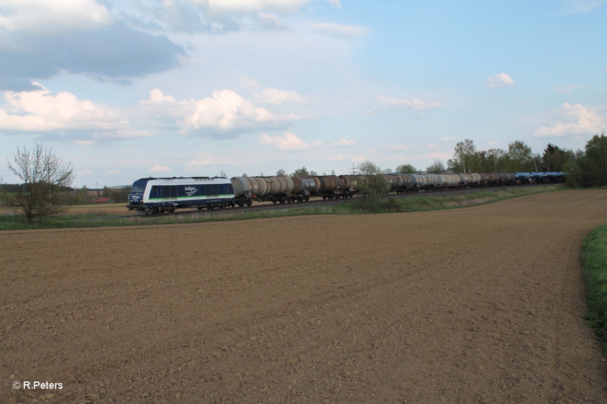
M72 163L64 162L52 147L38 142L32 148L18 147L13 157L15 161L8 162L8 169L21 181L17 202L27 223L66 212L68 190L74 182Z

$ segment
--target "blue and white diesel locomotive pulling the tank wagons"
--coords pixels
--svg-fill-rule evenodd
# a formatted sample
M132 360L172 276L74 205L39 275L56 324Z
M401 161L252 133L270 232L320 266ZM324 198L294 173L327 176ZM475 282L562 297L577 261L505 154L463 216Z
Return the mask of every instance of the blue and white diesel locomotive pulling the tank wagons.
M224 177L141 178L133 183L129 210L163 213L175 209L234 207L234 187Z

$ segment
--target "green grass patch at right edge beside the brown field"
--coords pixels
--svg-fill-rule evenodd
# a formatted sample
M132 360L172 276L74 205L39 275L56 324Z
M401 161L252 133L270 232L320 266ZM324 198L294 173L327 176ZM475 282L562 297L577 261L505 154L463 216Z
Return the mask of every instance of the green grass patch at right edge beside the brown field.
M600 337L603 355L607 356L607 224L588 233L580 260L586 283L585 319Z

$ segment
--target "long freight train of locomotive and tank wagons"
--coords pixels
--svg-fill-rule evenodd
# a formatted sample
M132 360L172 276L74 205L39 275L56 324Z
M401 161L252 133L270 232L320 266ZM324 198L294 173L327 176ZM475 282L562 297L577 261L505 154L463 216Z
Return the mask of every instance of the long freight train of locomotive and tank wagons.
M471 173L471 174L383 174L390 192L409 193L499 185L546 184L565 180L563 172ZM163 213L175 209L202 210L251 206L255 201L276 204L303 202L311 196L322 199L351 198L364 176L269 176L269 177L171 177L141 178L133 183L129 210Z

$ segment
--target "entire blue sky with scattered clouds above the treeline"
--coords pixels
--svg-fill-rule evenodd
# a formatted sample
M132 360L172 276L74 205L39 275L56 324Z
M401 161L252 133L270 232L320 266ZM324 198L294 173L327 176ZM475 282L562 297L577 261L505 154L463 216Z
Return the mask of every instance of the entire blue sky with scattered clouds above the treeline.
M607 1L0 0L0 177L425 170L607 128Z

